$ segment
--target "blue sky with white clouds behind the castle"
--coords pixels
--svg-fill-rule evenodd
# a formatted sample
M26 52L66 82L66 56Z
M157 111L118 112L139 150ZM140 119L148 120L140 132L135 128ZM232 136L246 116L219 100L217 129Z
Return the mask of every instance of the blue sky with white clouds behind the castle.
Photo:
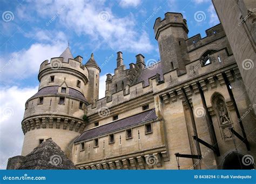
M58 57L68 42L73 56L82 56L83 63L92 52L99 66L108 60L100 74L103 97L105 74L113 73L118 51L123 52L126 67L136 61L138 53L145 61L160 59L153 32L157 17L163 19L165 12L182 13L187 19L188 37L198 33L205 37L206 29L219 24L210 0L0 3L0 168L5 167L8 157L21 152L24 103L37 92L40 64ZM7 145L12 146L5 149Z

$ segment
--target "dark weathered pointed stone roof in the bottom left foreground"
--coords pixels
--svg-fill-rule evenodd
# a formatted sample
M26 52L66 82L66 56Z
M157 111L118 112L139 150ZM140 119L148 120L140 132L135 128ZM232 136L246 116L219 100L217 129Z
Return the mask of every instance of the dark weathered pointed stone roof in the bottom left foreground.
M12 161L12 159L17 160L16 157L9 159L7 169L77 169L51 138L23 156L22 161L16 161L19 167L15 167L16 163Z

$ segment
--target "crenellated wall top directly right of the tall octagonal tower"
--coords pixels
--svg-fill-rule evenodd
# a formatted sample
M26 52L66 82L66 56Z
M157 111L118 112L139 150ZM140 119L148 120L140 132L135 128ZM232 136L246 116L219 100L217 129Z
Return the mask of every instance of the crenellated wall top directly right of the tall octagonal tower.
M208 43L211 43L214 40L224 37L226 35L221 24L215 25L212 28L207 29L205 32L206 37L204 38L201 38L201 35L198 34L185 40L188 52Z

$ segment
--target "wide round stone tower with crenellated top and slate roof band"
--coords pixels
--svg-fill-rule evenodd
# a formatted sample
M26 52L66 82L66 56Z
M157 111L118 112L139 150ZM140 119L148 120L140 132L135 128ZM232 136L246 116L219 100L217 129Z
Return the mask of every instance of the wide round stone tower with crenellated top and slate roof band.
M52 138L69 157L73 141L83 132L89 73L82 57L73 58L69 47L45 60L39 70L38 92L25 104L22 155Z

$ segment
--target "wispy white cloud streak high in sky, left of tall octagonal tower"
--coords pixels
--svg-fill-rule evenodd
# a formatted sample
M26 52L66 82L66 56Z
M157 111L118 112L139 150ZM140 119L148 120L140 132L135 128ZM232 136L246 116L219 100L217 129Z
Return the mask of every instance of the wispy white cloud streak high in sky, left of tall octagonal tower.
M130 52L150 52L153 49L149 35L137 28L132 13L118 17L102 1L37 1L32 2L32 5L38 15L45 19L50 19L59 9L65 7L55 21L78 36L89 36L93 45L104 42L114 50L123 49Z

